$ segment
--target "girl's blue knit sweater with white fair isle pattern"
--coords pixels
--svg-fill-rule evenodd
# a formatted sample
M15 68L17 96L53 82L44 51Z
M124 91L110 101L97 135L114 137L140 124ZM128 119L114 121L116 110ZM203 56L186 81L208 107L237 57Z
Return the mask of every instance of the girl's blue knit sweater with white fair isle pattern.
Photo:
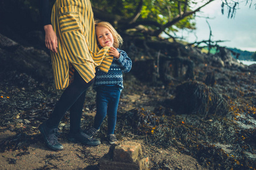
M127 56L123 50L117 48L117 51L120 53L119 59L114 57L110 70L108 73L99 70L96 68L94 89L98 86L119 86L120 89L123 89L123 73L128 73L132 68L132 60Z

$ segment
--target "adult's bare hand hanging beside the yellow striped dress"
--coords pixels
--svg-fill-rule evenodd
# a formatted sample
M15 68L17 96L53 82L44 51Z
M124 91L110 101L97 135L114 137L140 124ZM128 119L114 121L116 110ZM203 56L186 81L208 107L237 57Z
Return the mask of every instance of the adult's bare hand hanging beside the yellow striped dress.
M44 25L45 46L52 52L57 53L58 41L56 33L53 31L52 25Z

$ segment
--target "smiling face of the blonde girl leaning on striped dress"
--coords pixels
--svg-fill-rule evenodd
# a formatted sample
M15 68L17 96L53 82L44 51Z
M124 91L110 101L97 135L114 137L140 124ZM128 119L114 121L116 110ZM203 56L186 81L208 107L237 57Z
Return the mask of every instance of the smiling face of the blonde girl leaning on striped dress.
M96 37L99 45L102 47L113 46L114 44L114 37L112 33L105 27L96 27Z

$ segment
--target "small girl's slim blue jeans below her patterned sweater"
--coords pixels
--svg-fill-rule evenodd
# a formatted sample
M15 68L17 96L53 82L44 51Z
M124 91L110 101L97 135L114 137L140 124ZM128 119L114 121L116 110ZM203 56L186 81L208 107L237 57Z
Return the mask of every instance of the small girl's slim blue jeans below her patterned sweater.
M114 134L116 126L116 114L120 99L118 86L99 86L96 88L96 116L94 128L99 129L106 115L108 115L107 134Z

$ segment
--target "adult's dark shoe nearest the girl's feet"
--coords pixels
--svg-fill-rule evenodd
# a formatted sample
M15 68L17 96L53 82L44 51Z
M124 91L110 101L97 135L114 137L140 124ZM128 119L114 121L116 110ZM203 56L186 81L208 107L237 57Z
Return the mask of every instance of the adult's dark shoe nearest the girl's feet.
M90 138L89 135L79 131L78 133L69 133L68 141L74 143L82 143L83 145L92 145L97 146L100 145L100 141L95 138Z

